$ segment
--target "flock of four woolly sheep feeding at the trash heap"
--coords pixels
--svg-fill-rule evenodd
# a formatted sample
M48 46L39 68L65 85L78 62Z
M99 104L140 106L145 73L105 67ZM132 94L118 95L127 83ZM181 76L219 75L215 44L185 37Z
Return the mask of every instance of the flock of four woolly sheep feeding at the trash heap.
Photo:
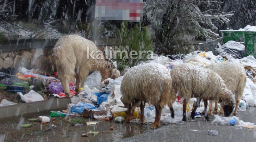
M117 78L120 72L113 68L113 62L108 59L88 58L87 52L97 51L97 46L90 40L78 35L67 35L59 39L54 47L54 57L61 85L65 94L70 98L68 82L76 78L76 91L79 83L84 82L90 72L99 70L102 80L106 78ZM96 52L92 54L97 56ZM204 102L204 117L209 120L208 115L212 112L212 100L215 101L213 113L217 113L217 102L221 104L219 115L229 116L234 108L233 115L237 115L238 102L246 83L246 72L244 67L237 63L224 62L210 64L206 68L192 64L181 64L168 70L158 63L144 63L131 68L124 74L121 83L121 101L128 109L126 122L131 121L136 107L140 106L140 123L144 121L145 103L155 106L155 122L151 128L155 129L161 125L161 111L167 104L170 107L171 116L174 118L172 104L176 95L184 98L183 118L186 121L186 106L190 98L196 97L197 103L191 113L192 119L201 99ZM207 100L210 100L210 108L207 112Z

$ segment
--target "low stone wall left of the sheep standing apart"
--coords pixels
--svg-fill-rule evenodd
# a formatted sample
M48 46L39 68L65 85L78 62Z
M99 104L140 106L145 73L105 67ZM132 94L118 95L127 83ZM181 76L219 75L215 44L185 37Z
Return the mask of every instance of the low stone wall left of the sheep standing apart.
M52 47L3 52L0 55L0 71L15 74L19 67L53 72Z

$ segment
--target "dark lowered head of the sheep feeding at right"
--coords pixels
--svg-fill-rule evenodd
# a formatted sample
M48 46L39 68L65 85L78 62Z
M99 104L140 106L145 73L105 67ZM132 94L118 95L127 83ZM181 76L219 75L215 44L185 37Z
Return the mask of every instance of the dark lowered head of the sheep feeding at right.
M226 95L223 95L219 102L221 102L221 106L224 109L225 117L228 117L235 107L235 99L233 93L231 91L226 92Z

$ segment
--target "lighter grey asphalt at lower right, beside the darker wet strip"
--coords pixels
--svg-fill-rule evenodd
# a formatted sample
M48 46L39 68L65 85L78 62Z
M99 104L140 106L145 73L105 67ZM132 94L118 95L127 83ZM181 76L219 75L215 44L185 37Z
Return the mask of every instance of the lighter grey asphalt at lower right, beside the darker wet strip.
M256 107L250 107L247 111L238 111L238 117L244 122L256 124ZM211 121L214 116L210 116ZM204 118L196 118L195 122L178 123L161 126L159 129L147 131L123 139L127 142L256 142L256 130L235 126L213 125L204 121ZM189 131L200 130L199 131ZM217 130L218 135L208 135L207 130Z

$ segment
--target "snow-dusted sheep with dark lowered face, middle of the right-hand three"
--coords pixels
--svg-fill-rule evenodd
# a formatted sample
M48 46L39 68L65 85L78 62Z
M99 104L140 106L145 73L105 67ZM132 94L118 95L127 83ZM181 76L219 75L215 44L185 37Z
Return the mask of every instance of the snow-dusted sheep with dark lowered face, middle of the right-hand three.
M204 100L204 112L207 112L207 100L217 99L224 108L225 113L231 113L234 108L233 93L226 87L222 78L210 69L200 68L192 64L181 64L175 66L171 71L173 80L172 94L184 98L183 118L186 121L187 101L191 97L197 97ZM200 101L199 101L200 102ZM191 113L195 114L197 104ZM207 113L204 117L209 121Z

